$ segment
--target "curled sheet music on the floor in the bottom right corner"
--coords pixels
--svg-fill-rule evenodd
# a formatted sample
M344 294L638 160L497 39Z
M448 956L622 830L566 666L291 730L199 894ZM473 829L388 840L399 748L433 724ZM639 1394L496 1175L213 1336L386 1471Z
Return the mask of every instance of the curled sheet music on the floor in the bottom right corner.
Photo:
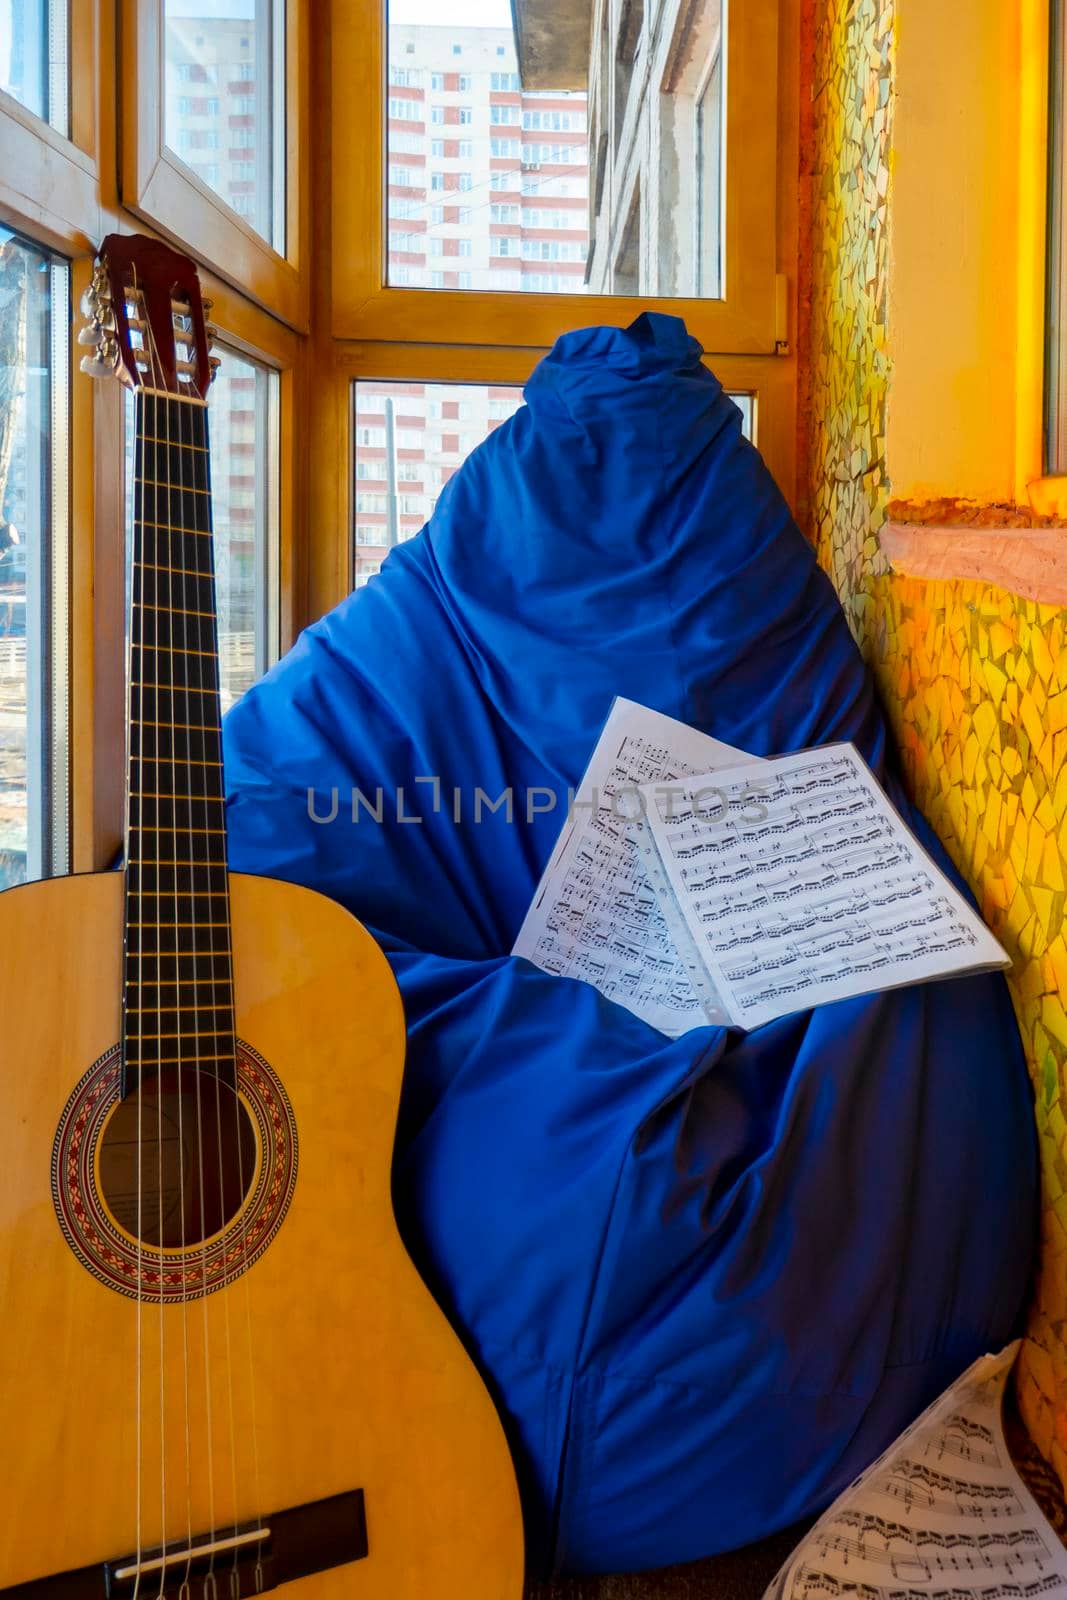
M1067 1550L1005 1440L1017 1349L984 1355L934 1400L822 1514L765 1600L1067 1597Z

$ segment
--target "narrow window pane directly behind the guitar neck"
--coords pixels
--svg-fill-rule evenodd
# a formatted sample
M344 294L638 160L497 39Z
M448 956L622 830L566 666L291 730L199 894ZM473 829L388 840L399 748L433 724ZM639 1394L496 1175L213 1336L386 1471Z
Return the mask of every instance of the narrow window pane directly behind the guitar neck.
M229 710L278 656L278 374L221 346L208 392L219 690ZM133 517L133 397L126 402ZM133 550L130 523L126 555Z

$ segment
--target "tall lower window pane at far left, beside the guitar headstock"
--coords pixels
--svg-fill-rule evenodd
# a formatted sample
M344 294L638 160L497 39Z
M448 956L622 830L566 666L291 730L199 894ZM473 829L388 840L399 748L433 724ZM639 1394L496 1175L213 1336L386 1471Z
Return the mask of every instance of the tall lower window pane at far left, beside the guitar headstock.
M0 890L66 867L67 302L0 227Z

